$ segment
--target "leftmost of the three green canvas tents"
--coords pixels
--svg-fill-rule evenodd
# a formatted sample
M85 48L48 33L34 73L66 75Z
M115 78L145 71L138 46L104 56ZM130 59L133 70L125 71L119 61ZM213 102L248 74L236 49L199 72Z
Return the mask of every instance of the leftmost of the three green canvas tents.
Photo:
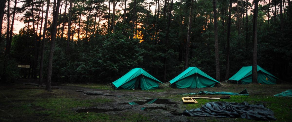
M142 68L134 68L112 84L116 89L150 90L158 88L158 83L162 82L154 78Z

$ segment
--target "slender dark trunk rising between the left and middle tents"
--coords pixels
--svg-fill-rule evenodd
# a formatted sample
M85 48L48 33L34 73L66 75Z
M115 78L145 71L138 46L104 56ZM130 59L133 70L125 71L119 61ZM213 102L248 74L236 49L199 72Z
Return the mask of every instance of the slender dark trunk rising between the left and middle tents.
M168 52L167 46L168 46L168 40L169 40L169 28L170 28L170 22L171 22L171 11L172 11L172 6L173 6L173 0L171 0L171 5L169 9L169 16L168 16L168 21L167 21L167 30L166 30L166 37L165 37L165 55ZM167 67L167 58L166 56L164 57L164 75L163 75L163 81L166 81L166 67Z

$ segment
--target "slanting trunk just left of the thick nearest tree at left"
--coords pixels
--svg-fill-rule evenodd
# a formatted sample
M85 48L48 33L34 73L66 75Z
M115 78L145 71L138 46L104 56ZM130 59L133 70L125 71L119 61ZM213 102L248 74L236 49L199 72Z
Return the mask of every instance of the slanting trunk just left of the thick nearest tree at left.
M47 1L46 16L45 16L45 23L44 23L44 32L43 32L42 49L41 49L41 60L40 60L40 64L39 64L39 86L43 85L44 51L45 51L45 44L46 44L46 31L47 31L47 24L48 24L48 14L49 14L50 2L51 2L51 0Z

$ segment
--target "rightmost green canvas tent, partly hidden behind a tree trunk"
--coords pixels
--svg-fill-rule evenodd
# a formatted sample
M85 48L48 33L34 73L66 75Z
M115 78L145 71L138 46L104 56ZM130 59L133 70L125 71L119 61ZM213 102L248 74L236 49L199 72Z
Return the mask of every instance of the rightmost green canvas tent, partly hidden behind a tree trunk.
M257 65L258 71L258 83L261 84L276 84L277 78L265 69ZM239 81L242 84L248 84L252 82L252 66L244 66L237 73L235 73L228 80Z

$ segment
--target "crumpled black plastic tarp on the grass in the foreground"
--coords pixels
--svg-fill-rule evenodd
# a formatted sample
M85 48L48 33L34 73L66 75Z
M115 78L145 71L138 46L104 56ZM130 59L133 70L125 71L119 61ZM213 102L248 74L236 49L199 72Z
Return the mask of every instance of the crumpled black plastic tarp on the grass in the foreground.
M225 118L246 118L253 120L277 120L272 110L262 104L251 105L247 102L208 102L201 108L185 110L187 116L208 116Z

